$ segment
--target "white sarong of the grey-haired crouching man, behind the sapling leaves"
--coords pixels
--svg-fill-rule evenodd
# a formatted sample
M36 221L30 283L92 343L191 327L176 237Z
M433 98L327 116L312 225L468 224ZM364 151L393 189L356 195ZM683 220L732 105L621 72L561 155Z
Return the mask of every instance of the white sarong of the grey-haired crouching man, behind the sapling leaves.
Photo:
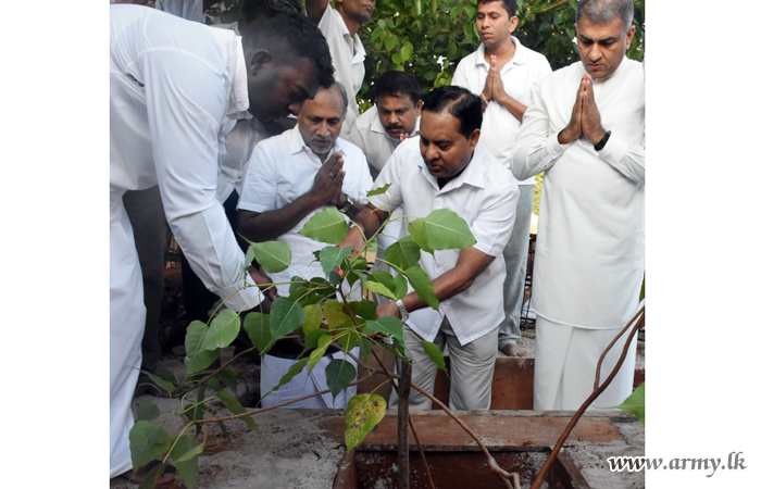
M354 348L351 353L359 356L360 349ZM345 358L344 352L334 353L333 359L340 360ZM330 363L330 356L323 356L314 366L311 373L308 374L309 366L294 377L288 384L280 387L274 392L270 392L279 384L284 375L288 373L288 368L295 365L298 361L290 359L280 359L278 356L264 355L262 356L262 377L261 377L261 396L262 408L270 408L282 402L290 401L302 396L320 392L327 389L327 379L325 378L325 368ZM357 367L357 363L347 358L347 362ZM267 392L270 392L267 394ZM314 398L304 399L302 401L288 404L284 408L307 408L307 409L345 409L349 399L357 393L357 386L347 387L338 392L336 399L333 399L333 393L327 392Z

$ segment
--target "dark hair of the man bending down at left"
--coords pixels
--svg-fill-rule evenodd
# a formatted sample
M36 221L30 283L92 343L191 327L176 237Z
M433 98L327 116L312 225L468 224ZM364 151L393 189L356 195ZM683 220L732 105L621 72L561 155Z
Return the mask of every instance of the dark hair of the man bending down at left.
M327 41L316 25L303 15L278 14L248 30L242 36L244 48L266 49L279 65L296 65L310 60L317 71L320 85L333 85L333 60Z

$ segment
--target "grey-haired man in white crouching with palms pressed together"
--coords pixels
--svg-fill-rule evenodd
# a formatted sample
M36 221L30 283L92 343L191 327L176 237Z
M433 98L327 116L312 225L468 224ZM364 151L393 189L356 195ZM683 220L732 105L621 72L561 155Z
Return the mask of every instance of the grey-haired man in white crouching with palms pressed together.
M313 254L325 244L300 235L304 224L326 206L337 208L347 218L355 216L372 186L362 151L338 137L347 105L340 85L323 88L303 104L297 127L262 141L253 152L238 203L238 231L251 241L276 239L289 246L290 267L271 274L280 294L288 294L295 275L325 276ZM262 358L263 408L326 389L325 368L332 359L344 358L328 351L311 373L302 371L267 396L301 353L300 346L294 347L282 340ZM351 387L335 399L328 393L288 408L346 408L355 391Z

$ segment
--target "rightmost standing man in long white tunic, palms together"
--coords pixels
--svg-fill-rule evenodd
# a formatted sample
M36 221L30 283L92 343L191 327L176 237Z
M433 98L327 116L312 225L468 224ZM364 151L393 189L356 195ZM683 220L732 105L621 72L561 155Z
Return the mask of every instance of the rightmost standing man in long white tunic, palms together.
M576 410L591 393L597 362L632 318L645 269L645 79L626 58L632 0L582 0L581 61L537 85L512 170L545 172L534 298L534 409ZM601 379L624 341L606 356ZM636 344L594 405L632 393Z

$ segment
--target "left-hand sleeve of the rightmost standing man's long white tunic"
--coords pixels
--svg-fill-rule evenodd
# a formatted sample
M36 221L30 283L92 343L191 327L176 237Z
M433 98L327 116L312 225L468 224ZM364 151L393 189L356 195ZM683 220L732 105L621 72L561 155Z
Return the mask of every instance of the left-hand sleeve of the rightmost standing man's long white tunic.
M554 165L570 145L558 142L558 134L550 134L550 120L541 92L542 84L532 90L532 100L523 114L510 161L515 178L525 180Z

